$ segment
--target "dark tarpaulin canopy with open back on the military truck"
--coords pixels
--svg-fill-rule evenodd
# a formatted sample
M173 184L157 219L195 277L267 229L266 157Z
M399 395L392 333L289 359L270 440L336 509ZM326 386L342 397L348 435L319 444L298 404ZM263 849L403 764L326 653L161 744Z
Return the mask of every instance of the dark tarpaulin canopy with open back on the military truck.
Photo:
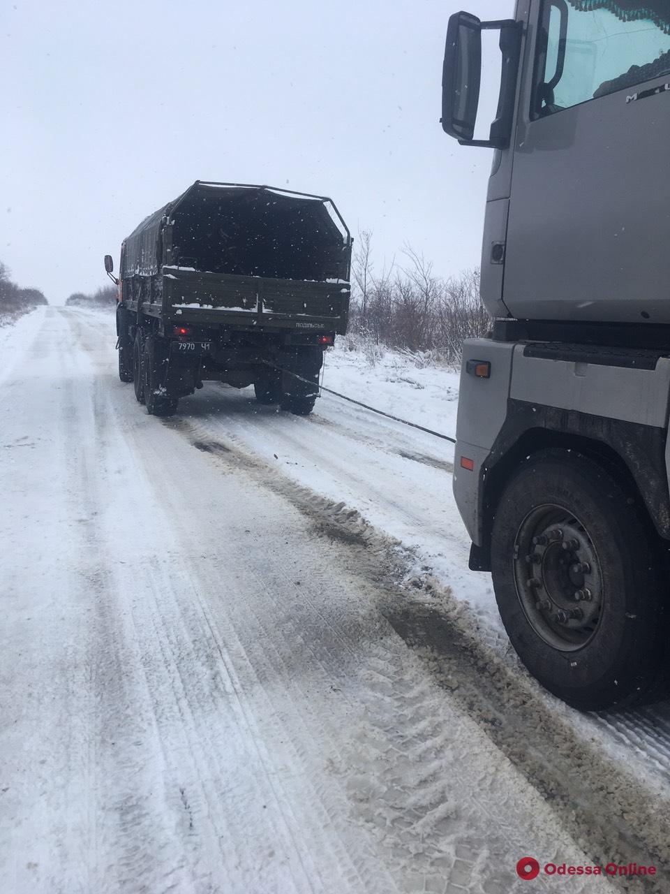
M130 233L121 276L158 274L163 257L214 274L348 281L351 238L330 198L196 181Z

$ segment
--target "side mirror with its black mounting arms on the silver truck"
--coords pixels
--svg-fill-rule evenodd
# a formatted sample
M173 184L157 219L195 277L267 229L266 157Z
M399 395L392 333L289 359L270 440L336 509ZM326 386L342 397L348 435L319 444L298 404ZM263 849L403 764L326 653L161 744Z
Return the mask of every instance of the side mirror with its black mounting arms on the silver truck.
M498 112L489 139L473 139L482 80L482 30L500 31L502 72ZM504 149L509 146L514 119L516 79L521 54L521 22L480 21L471 13L449 18L442 67L442 129L465 146Z

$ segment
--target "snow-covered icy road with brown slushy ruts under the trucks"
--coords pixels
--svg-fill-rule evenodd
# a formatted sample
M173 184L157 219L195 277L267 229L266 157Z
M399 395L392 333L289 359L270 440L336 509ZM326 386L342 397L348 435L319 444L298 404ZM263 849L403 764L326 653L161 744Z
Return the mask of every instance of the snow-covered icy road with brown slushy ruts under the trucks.
M113 343L77 308L3 332L3 894L557 890L527 855L669 889L666 714L519 671L444 443L216 385L162 421Z

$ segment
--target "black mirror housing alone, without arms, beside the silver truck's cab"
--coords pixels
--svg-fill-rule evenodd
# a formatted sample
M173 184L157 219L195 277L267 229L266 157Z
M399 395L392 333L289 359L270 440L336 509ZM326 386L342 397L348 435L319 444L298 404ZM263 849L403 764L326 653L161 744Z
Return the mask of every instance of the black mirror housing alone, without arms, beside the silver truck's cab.
M470 13L449 18L442 66L442 129L471 140L482 80L482 22Z

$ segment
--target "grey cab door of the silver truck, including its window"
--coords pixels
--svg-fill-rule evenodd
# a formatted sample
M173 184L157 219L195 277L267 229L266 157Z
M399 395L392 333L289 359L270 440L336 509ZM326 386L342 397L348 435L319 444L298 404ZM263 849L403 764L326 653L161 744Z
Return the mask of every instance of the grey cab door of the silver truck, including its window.
M528 37L505 304L670 323L670 0L538 0Z

